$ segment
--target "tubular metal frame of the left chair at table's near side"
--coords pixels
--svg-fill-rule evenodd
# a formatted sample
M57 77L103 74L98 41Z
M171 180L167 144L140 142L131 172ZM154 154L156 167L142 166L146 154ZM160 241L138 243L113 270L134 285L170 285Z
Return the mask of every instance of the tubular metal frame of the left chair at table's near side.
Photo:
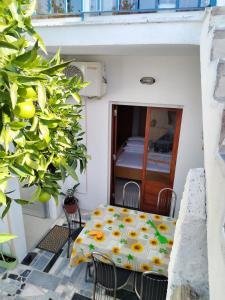
M121 285L121 286L117 286L117 268L116 268L116 265L115 263L108 257L106 256L105 254L102 254L100 252L92 252L91 254L91 257L92 257L92 261L93 261L93 264L94 264L94 290L93 290L93 300L96 300L96 288L97 288L97 285L104 288L105 290L108 290L110 292L113 292L113 298L110 298L110 299L113 299L113 300L116 300L116 292L117 290L120 290L122 288L124 288L129 280L129 277L128 279L126 280L126 282ZM111 266L112 268L112 278L114 280L114 287L113 288L109 288L107 286L104 286L102 285L101 283L99 283L97 281L97 272L98 272L98 266L97 264L98 263L102 263L102 264L108 264Z

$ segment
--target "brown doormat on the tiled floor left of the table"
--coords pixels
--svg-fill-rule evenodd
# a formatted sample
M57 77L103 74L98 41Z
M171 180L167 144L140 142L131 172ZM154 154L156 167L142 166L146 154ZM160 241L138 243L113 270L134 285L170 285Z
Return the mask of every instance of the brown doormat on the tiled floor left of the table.
M68 228L55 225L38 243L37 248L53 253L58 253L67 242L68 236Z

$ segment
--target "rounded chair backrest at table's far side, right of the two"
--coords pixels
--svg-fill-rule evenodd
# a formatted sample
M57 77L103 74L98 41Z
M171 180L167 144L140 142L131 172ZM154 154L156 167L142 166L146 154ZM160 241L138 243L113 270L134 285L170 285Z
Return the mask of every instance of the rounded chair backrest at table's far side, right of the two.
M169 211L169 216L174 217L177 194L171 188L164 188L158 194L157 213L165 214Z

